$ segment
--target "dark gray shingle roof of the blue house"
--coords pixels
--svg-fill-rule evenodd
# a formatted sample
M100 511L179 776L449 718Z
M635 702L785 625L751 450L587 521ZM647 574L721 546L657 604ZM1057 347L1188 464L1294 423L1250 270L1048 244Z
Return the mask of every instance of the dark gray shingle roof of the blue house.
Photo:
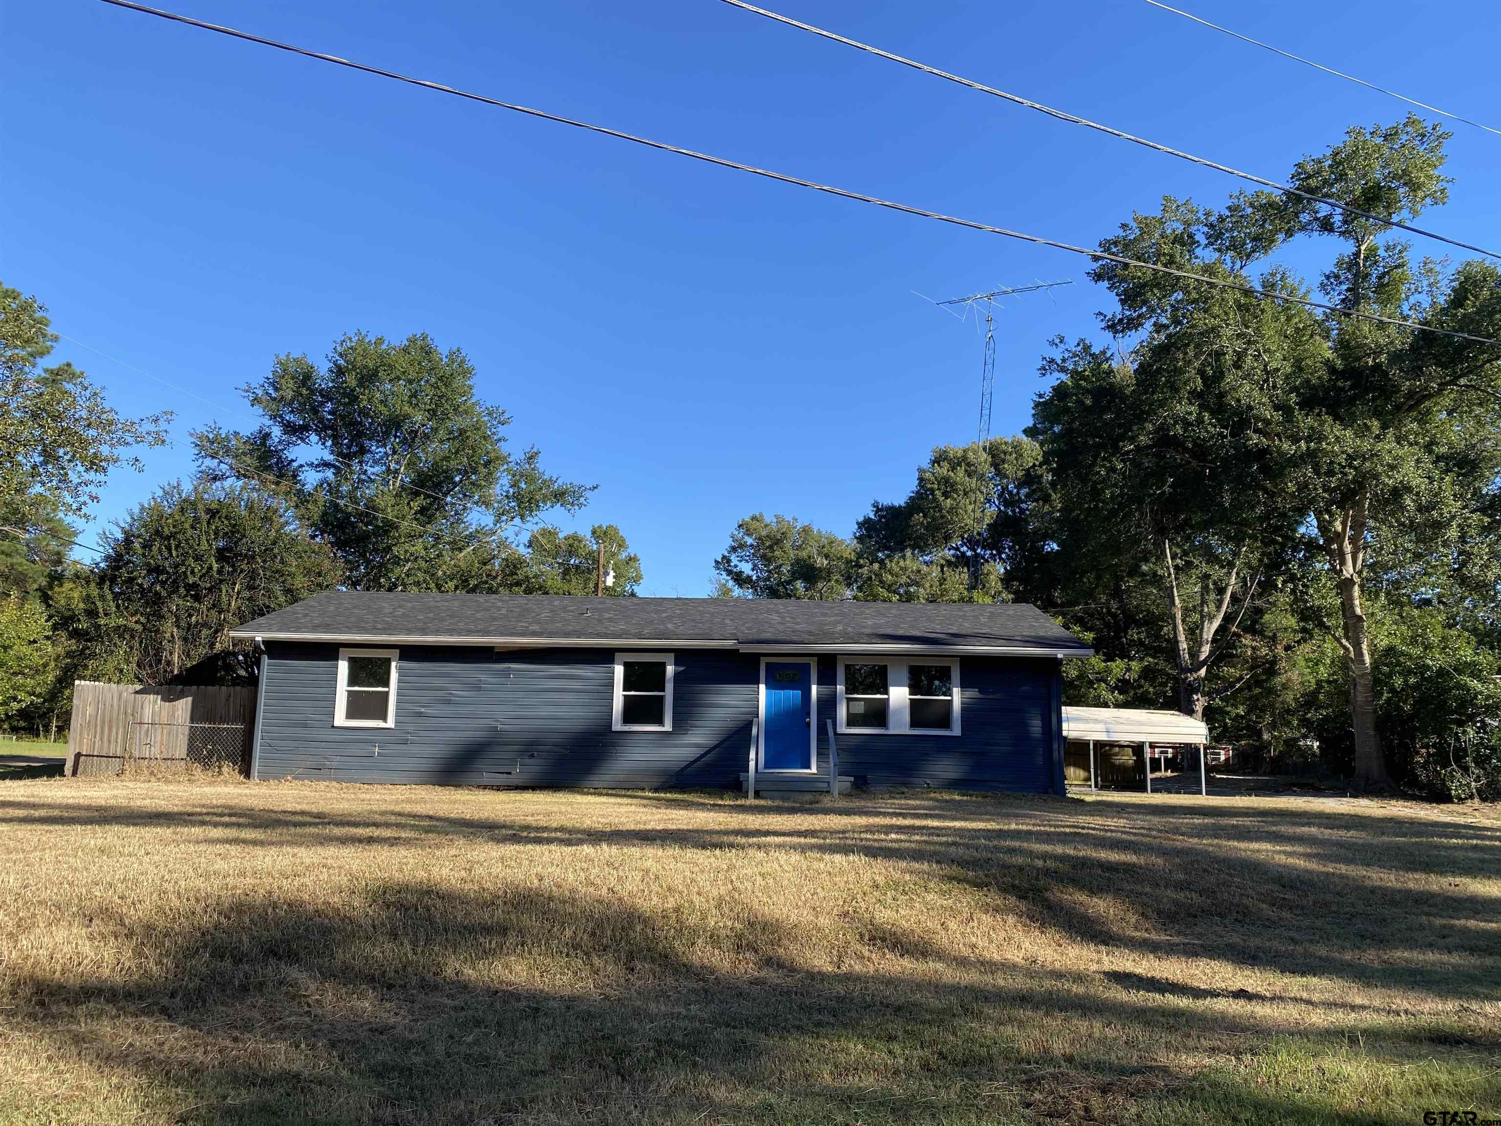
M1090 649L1036 607L917 602L791 602L720 598L404 595L338 590L246 622L234 637L338 641L708 643Z

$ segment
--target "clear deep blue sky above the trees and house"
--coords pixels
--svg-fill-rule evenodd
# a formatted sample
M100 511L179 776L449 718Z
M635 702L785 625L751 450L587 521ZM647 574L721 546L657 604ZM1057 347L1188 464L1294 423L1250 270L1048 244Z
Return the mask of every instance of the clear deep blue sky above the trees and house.
M835 185L1093 245L1163 192L1231 180L713 0L162 0L203 20ZM1273 179L1399 102L1138 0L784 0L788 15ZM773 5L775 6L775 5ZM1501 119L1501 8L1369 0L1190 11L1457 113ZM995 432L1049 336L1094 330L1087 263L527 120L89 0L0 9L0 278L54 327L242 408L278 353L341 333L461 345L518 446L599 485L644 593L702 595L734 522L848 533L974 437L980 341L928 305L1007 302ZM1492 120L1490 123L1495 123ZM1501 137L1456 125L1448 207L1501 243ZM111 521L237 419L66 341L174 444ZM86 533L92 537L93 530Z

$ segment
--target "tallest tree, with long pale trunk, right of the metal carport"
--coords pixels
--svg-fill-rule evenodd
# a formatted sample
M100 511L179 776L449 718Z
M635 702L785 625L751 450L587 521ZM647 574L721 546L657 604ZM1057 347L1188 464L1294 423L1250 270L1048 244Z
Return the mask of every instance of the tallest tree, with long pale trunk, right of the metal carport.
M1159 215L1138 215L1118 237L1102 243L1114 254L1295 294L1301 284L1268 264L1268 255L1294 242L1331 237L1340 249L1319 279L1325 300L1346 314L1417 320L1478 338L1328 314L1316 317L1321 347L1304 350L1301 320L1288 318L1283 332L1297 335L1298 348L1261 365L1259 390L1255 381L1243 387L1244 395L1264 398L1265 416L1276 417L1256 437L1267 444L1265 458L1277 467L1288 510L1309 530L1309 549L1337 595L1331 625L1348 671L1352 769L1357 785L1366 788L1390 781L1378 730L1367 574L1381 554L1415 554L1420 546L1429 554L1453 551L1453 536L1465 522L1463 489L1456 488L1448 456L1454 419L1483 414L1493 428L1501 401L1501 356L1484 342L1501 336L1496 269L1480 261L1451 270L1414 261L1408 243L1388 225L1447 200L1445 140L1442 129L1408 117L1388 128L1351 129L1340 144L1295 167L1292 186L1351 203L1378 219L1249 192L1220 212L1168 200ZM1262 272L1253 278L1250 269L1258 264ZM1201 323L1198 311L1225 300L1208 287L1183 287L1118 263L1100 264L1093 276L1120 302L1106 326L1148 341ZM1223 332L1238 327L1240 318L1226 312ZM1249 332L1243 347L1255 357L1267 339L1265 332Z

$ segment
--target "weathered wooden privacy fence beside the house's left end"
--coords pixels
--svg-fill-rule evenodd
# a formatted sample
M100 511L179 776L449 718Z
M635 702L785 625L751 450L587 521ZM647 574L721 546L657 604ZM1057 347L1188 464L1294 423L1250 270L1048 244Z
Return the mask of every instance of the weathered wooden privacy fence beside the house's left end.
M249 773L255 689L74 685L68 775L119 775L132 764Z

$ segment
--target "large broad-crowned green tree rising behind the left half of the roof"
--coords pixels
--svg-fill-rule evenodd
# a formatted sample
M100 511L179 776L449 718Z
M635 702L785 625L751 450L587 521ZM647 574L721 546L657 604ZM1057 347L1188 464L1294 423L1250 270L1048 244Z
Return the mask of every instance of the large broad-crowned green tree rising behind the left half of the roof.
M197 432L201 464L287 497L356 590L504 589L525 574L524 534L591 491L545 473L536 449L512 453L473 365L426 335L354 333L324 366L281 356L243 390L266 423Z

